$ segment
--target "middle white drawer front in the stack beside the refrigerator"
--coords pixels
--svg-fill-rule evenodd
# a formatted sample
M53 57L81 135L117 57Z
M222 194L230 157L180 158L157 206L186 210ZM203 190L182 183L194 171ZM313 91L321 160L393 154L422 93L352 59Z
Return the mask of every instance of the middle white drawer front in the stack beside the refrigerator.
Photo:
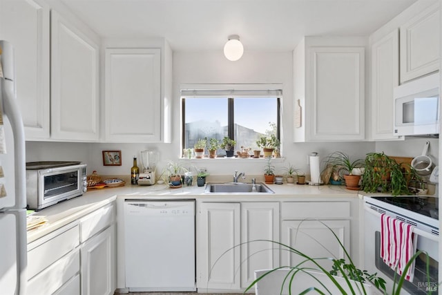
M79 271L80 254L79 249L76 249L28 280L28 292L35 295L52 294L68 282L70 278L79 274Z

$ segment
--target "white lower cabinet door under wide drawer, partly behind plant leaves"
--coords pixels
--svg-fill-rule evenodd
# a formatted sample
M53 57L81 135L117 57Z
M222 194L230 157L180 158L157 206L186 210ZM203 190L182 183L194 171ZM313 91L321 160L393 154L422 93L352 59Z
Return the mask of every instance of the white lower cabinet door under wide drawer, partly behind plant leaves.
M292 247L310 258L345 258L344 249L332 231L338 236L345 249L350 251L349 220L283 220L281 228L282 244ZM300 254L284 246L281 246L281 256L281 265L294 266L305 260ZM333 263L330 260L316 259L316 262L325 269L332 269ZM315 267L311 262L300 265L300 267L308 266Z

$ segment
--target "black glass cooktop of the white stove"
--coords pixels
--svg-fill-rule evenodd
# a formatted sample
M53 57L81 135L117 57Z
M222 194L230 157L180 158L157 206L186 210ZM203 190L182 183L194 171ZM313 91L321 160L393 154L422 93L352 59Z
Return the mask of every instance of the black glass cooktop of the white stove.
M431 218L439 219L438 198L430 196L373 196L373 199L392 204Z

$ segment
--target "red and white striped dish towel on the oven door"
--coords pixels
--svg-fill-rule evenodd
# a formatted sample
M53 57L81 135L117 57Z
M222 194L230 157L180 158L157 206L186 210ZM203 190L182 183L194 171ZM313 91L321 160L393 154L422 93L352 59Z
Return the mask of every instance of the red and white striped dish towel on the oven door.
M416 253L417 238L413 238L413 228L401 220L381 215L381 258L399 275L403 274L408 260ZM413 277L414 261L405 279L412 281Z

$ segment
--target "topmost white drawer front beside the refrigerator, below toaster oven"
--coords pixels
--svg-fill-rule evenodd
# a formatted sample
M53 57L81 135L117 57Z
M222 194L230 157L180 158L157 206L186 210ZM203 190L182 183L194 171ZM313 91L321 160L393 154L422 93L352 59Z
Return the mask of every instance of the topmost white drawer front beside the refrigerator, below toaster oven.
M79 245L78 225L66 227L28 245L28 280Z

